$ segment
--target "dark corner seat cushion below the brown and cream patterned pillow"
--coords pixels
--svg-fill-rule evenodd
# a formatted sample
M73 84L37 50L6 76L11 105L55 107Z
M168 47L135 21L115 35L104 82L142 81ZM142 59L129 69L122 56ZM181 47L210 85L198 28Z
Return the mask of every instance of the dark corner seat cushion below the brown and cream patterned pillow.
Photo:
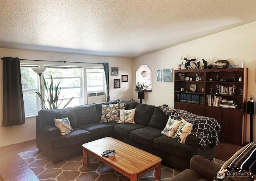
M92 123L79 126L83 130L86 130L91 133L91 138L102 136L104 134L112 133L113 127L107 124L100 124L100 123Z

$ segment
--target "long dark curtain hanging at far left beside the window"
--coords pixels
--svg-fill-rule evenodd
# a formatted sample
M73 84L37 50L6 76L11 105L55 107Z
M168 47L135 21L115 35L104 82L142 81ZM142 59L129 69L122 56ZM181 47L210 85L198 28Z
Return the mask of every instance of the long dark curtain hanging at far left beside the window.
M20 59L3 57L3 123L2 126L22 125L25 111L20 75Z

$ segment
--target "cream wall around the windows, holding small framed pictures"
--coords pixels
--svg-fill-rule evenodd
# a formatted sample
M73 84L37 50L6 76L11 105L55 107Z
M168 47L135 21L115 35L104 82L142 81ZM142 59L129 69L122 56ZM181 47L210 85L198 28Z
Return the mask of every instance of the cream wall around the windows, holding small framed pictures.
M132 59L99 57L89 55L76 55L67 53L53 53L44 51L28 51L21 49L4 49L0 48L0 57L19 57L20 59L34 60L52 60L52 61L75 61L75 62L90 62L90 63L109 63L109 71L111 67L119 67L119 75L110 75L110 99L127 99L132 98L132 90L134 90L132 77ZM0 85L2 80L2 61L0 61ZM128 82L121 82L121 88L114 89L114 79L121 79L121 75L128 75ZM0 87L0 126L2 126L2 104L3 104L3 89ZM0 127L0 146L7 146L34 140L36 138L35 117L26 118L26 123L21 126Z

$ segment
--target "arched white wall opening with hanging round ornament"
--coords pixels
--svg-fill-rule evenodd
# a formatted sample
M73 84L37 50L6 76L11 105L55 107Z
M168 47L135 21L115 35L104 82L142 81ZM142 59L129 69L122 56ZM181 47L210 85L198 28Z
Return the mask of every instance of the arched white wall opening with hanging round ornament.
M136 71L136 84L144 84L147 88L146 90L151 91L152 89L152 71L149 69L148 65L140 65Z

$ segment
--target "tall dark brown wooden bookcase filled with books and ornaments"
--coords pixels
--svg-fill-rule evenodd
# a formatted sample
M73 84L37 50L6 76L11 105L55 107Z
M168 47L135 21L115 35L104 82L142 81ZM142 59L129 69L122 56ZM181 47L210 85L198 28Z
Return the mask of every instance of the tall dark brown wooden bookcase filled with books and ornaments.
M174 107L215 118L221 126L219 139L242 145L246 141L247 79L247 68L174 70ZM196 85L196 91L186 92L191 85ZM193 103L192 95L196 96ZM232 108L225 105L223 107L220 105L223 104L222 99L234 100L238 105L231 106ZM213 102L208 105L209 100Z

